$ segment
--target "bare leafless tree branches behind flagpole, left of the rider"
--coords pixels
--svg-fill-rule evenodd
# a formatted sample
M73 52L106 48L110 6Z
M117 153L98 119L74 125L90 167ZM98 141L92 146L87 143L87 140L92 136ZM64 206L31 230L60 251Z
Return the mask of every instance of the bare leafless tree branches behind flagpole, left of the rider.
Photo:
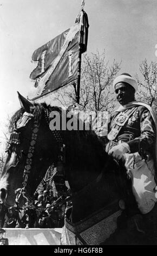
M120 70L121 63L115 60L109 66L106 54L84 54L81 67L80 105L84 110L103 111L112 110L115 107L113 100L112 83ZM55 99L64 106L72 105L75 101L75 90L72 87L62 88L56 93Z

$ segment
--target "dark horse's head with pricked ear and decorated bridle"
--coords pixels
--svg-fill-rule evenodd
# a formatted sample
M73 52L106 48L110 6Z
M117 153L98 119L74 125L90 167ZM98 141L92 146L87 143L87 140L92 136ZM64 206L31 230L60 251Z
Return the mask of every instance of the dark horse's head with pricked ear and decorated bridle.
M19 95L22 108L10 122L10 140L0 179L1 200L15 204L18 188L32 197L51 164L60 154L62 138L49 128L49 106L32 104ZM23 192L22 192L23 191ZM21 197L21 199L24 197ZM24 200L19 200L19 206Z

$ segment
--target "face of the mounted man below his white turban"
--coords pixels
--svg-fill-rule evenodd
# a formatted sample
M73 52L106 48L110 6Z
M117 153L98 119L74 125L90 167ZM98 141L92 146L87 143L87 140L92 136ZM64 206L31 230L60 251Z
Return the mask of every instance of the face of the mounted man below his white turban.
M121 105L126 105L134 100L134 89L125 83L117 83L115 86L116 98Z

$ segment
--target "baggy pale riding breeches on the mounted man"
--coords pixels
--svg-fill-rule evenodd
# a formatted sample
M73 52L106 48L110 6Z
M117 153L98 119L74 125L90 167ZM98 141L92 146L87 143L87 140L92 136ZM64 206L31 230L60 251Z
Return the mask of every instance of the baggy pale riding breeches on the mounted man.
M146 161L136 152L125 154L123 162L129 177L132 179L132 190L138 208L142 214L147 214L153 209L157 201L153 159Z

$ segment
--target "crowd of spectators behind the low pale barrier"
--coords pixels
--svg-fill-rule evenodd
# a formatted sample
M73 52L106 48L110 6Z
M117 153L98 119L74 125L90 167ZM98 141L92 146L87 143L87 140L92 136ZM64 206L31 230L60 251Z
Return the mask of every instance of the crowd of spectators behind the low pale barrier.
M56 203L58 202L58 203ZM67 206L70 200L60 200L53 191L45 190L34 194L34 202L21 209L17 206L6 208L0 202L1 228L62 228Z

